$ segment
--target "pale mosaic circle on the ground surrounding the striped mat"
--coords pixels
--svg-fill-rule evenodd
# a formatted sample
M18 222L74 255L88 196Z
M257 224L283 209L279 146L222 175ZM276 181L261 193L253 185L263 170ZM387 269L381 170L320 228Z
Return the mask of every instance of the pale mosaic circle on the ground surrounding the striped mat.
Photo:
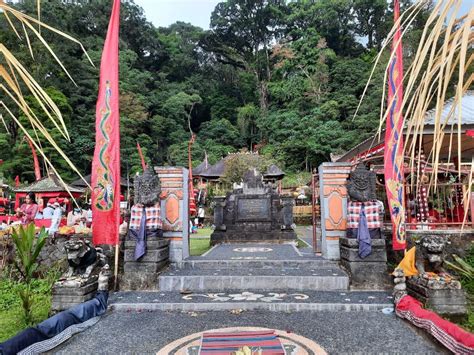
M157 355L199 355L199 346L201 344L202 334L205 332L249 332L249 331L262 331L262 330L273 330L268 328L260 327L230 327L206 330L203 332L194 333L178 339L160 351ZM314 341L302 337L294 333L288 333L286 331L275 329L276 335L281 340L283 348L285 349L285 355L322 355L327 354L324 349L316 344ZM231 354L231 353L229 353Z

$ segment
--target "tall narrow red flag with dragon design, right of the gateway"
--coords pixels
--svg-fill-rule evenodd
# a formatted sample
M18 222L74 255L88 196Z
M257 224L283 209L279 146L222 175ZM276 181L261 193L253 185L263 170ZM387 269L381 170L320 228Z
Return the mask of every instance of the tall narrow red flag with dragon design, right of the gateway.
M394 3L394 21L400 17L400 4ZM406 247L405 194L403 188L403 61L400 24L392 44L393 59L388 68L388 110L385 130L384 174L390 218L392 220L393 250Z

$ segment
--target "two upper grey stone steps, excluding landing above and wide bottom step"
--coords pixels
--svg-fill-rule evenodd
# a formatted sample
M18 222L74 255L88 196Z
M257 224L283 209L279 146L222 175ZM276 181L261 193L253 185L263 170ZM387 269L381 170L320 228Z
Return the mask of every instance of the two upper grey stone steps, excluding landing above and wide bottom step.
M349 288L349 277L326 261L238 261L182 263L158 277L161 291L298 290L336 291Z

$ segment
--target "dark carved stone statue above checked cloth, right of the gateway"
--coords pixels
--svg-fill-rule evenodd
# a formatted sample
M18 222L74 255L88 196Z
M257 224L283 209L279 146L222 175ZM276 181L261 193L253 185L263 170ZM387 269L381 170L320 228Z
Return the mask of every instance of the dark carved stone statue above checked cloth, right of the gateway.
M376 174L367 170L364 164L357 165L349 174L347 193L352 201L367 202L377 199L375 194Z

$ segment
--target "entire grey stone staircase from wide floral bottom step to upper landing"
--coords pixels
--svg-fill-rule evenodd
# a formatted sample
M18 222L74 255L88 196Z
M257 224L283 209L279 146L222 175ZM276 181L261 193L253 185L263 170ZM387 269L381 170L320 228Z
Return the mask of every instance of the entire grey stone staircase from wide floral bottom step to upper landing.
M118 292L116 310L373 311L392 307L384 291L350 291L336 262L291 245L221 245L171 265L156 292Z

